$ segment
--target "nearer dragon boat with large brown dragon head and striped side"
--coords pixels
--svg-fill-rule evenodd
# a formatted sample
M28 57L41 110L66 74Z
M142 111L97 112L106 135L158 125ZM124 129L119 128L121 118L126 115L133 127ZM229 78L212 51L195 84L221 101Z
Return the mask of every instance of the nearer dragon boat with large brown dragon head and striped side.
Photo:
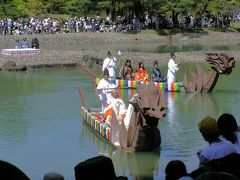
M144 84L137 91L138 93L129 100L128 110L131 108L131 113L128 118L126 115L122 124L118 123L115 114L111 127L103 122L101 110L86 107L83 93L80 91L81 114L84 122L93 131L116 148L132 152L152 151L161 144L158 122L165 116L164 91L160 91L154 83Z

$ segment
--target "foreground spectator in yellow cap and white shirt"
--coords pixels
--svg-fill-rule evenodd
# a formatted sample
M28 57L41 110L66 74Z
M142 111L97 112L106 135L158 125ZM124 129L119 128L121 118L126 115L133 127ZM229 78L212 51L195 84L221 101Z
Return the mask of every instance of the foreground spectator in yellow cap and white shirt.
M207 116L198 123L198 127L204 140L209 143L207 147L198 152L199 167L213 159L222 158L236 152L236 148L230 141L219 138L216 119Z

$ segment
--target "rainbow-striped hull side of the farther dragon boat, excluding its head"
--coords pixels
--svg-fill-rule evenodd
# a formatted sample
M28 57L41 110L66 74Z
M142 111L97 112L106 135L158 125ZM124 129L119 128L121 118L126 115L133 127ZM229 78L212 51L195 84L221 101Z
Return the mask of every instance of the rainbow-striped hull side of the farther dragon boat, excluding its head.
M95 85L97 86L100 81L100 78L95 79ZM142 81L135 80L124 80L124 79L111 79L110 83L116 84L120 88L133 88L136 89L144 84ZM181 82L176 82L168 85L167 82L154 82L159 90L169 91L169 92L180 92L181 91Z

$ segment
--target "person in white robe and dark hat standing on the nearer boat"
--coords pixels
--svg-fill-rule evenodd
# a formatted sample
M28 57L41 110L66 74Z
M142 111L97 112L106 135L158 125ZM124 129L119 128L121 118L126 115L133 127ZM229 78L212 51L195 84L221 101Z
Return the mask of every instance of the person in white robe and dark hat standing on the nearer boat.
M99 81L97 85L97 91L100 100L102 101L102 113L108 106L108 102L112 99L111 87L112 84L109 81L109 72L107 69L103 72L103 78Z

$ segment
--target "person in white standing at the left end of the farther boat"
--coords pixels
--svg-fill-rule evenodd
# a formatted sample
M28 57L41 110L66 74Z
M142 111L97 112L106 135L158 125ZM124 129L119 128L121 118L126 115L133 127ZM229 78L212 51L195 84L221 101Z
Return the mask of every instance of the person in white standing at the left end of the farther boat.
M116 79L116 62L117 59L112 56L110 51L108 51L107 58L103 61L102 72L104 72L104 69L107 69L109 71L110 79Z

